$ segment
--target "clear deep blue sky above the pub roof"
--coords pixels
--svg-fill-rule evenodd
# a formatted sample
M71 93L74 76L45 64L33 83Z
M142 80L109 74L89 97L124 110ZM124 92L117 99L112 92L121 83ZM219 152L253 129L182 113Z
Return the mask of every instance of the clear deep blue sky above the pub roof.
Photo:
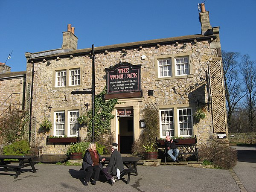
M203 0L202 0L203 1ZM26 70L25 52L61 48L67 24L78 49L201 33L198 0L0 0L0 62ZM221 47L256 60L256 0L207 0Z

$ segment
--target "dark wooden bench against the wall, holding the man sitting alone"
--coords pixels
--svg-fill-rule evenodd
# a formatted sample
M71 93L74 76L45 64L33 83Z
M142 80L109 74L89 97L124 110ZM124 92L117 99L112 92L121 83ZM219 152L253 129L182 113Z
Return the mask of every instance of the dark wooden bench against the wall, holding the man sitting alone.
M164 141L165 140L158 140L156 138L157 147L161 148L164 151L164 162L166 163L166 157L168 157L169 155L167 154L167 151L164 147ZM196 136L195 136L195 139L191 140L191 141L192 141L191 143L186 143L186 144L176 143L176 146L177 146L178 150L180 151L179 155L191 154L197 158L197 161L199 161Z

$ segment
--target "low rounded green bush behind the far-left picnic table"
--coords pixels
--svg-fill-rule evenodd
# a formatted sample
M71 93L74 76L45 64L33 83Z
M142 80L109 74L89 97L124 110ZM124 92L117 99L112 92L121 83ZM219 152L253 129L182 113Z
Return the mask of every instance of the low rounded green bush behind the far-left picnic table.
M29 144L24 140L17 141L3 147L4 155L26 155L29 151Z

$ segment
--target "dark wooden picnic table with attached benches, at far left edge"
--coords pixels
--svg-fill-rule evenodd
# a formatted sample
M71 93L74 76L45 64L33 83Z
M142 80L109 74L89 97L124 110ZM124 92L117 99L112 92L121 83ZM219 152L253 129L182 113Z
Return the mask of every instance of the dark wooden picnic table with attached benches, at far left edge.
M32 161L33 157L35 157L35 156L0 155L0 167L3 167L5 172L16 171L16 174L14 177L15 179L19 176L20 169L27 167L27 166L31 166L33 172L36 173L35 166ZM17 163L19 163L19 164L18 165L13 164L9 160L5 161L5 159L17 159L18 160ZM28 163L24 162L24 160L28 160ZM8 170L8 168L11 168L11 170Z

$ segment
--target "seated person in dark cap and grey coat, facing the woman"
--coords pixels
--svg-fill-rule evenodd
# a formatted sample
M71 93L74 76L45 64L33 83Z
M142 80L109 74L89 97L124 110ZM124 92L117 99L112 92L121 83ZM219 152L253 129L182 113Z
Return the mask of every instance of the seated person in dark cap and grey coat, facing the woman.
M122 157L118 149L117 143L112 143L111 145L111 157L109 160L108 165L106 168L103 169L103 174L105 175L106 179L110 182L111 185L115 183L115 176L117 175L116 169L119 169L120 172L122 172L124 168L124 164L122 162Z

